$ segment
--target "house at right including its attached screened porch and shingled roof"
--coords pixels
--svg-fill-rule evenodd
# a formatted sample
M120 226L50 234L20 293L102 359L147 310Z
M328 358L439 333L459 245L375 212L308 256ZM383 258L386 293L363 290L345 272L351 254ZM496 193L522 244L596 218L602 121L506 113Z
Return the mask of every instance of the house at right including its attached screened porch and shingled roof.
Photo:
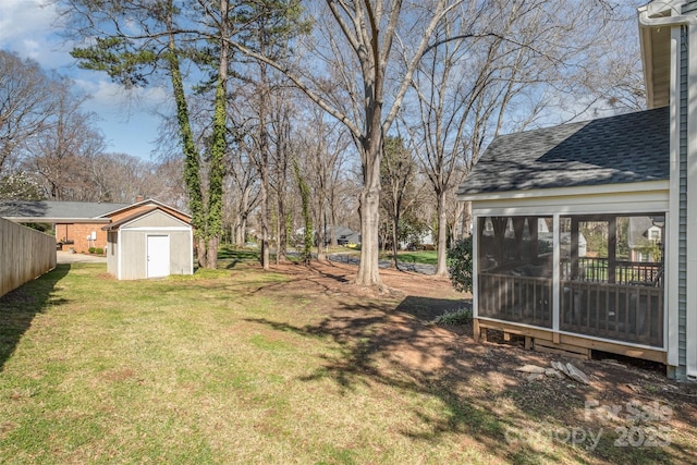
M497 137L463 182L475 338L497 329L528 346L619 353L697 377L696 12L697 0L638 11L649 110ZM583 257L591 228L604 243ZM664 253L623 258L639 235Z

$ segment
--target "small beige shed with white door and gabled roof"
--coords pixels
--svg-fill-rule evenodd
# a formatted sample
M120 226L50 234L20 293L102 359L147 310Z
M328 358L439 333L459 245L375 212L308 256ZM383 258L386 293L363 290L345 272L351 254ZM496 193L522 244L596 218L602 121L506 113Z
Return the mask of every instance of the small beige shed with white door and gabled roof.
M107 231L107 271L120 280L194 272L191 223L160 206L137 211L102 230Z

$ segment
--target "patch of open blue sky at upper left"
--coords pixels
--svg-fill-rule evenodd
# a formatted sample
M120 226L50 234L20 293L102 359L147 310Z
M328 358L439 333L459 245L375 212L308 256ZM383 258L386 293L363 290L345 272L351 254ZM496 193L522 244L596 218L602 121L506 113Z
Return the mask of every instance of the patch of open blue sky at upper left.
M91 98L84 110L96 113L107 151L150 159L158 136L154 109L163 105L162 89L125 91L102 73L80 70L70 56L70 44L57 35L57 11L51 0L0 0L0 49L36 60L45 70L73 78Z

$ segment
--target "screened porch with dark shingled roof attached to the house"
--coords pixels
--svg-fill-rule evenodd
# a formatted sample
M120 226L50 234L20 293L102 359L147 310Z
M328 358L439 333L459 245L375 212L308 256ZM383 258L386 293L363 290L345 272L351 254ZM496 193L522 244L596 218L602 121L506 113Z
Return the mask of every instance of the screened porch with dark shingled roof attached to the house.
M498 137L472 201L475 338L665 363L665 108Z

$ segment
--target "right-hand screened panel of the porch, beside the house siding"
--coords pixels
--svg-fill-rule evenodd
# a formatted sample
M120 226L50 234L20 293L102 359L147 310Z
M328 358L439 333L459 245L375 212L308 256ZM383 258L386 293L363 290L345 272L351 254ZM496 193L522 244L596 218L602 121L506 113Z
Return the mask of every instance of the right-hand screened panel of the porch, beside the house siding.
M663 223L661 215L561 218L562 331L663 345L663 253L650 234Z

